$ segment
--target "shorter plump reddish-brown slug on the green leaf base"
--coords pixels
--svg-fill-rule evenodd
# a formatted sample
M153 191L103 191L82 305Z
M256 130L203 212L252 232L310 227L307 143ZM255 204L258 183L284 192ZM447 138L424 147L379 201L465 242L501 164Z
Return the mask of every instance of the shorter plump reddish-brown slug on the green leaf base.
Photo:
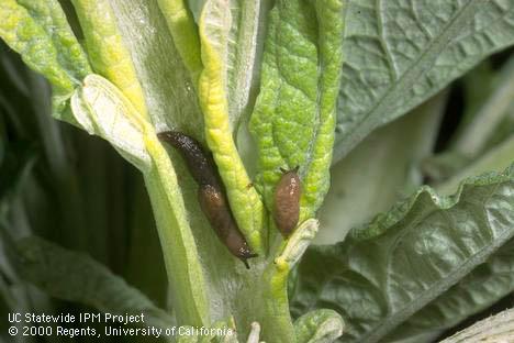
M301 186L297 172L298 167L284 172L275 188L275 223L286 239L297 228L300 217Z

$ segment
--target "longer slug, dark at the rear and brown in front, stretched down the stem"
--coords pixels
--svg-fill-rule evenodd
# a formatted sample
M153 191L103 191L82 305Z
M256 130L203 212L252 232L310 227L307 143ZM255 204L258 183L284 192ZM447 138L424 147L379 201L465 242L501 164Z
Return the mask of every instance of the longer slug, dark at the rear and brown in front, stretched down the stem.
M205 153L200 142L177 131L161 132L158 137L179 151L199 185L198 201L211 226L228 251L249 268L247 259L257 255L237 228L212 155Z

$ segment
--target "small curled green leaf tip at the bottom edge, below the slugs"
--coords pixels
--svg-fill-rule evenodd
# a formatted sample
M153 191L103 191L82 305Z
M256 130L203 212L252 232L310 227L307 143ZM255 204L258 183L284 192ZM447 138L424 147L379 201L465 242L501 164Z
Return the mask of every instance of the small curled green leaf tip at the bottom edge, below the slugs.
M294 322L298 343L332 343L343 334L345 323L333 310L316 310Z

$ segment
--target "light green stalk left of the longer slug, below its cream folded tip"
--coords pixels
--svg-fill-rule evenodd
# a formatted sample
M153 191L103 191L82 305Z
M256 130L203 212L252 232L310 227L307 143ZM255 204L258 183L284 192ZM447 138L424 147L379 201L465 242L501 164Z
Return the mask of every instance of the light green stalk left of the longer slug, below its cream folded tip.
M158 141L147 139L154 166L145 174L179 324L209 327L208 287L197 245L186 219L177 176Z

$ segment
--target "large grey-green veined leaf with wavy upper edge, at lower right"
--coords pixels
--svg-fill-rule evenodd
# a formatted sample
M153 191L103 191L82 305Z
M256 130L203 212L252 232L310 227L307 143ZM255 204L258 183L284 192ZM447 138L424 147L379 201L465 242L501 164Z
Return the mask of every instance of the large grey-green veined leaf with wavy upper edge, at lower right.
M379 342L514 235L513 189L514 167L468 179L451 197L423 187L344 243L313 247L294 313L329 307L345 319L344 342Z

